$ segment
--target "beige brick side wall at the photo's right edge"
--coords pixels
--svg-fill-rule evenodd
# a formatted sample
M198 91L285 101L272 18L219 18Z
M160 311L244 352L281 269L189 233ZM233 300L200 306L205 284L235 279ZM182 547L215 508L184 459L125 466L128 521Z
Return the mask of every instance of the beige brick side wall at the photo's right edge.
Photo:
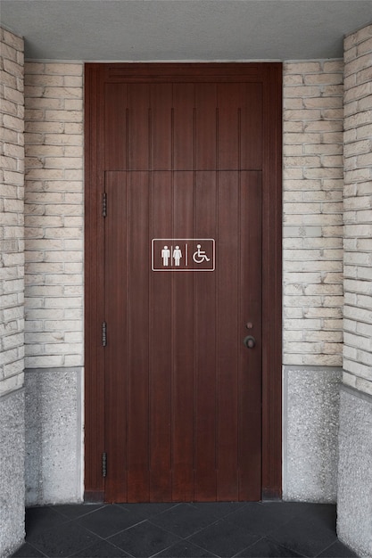
M372 394L372 25L344 41L343 382Z

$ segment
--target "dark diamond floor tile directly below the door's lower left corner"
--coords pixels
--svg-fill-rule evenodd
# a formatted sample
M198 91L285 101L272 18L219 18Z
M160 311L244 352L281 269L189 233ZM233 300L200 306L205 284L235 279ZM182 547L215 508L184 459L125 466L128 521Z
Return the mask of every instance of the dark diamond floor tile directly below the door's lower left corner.
M93 513L88 513L78 520L79 525L89 529L102 538L112 537L128 529L139 521L134 513L116 505L106 505Z

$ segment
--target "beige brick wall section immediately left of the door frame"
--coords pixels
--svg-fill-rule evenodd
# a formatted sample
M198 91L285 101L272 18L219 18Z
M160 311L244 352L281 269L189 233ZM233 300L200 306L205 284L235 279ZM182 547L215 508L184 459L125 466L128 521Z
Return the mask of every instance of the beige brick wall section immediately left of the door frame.
M27 62L26 367L83 364L83 64Z

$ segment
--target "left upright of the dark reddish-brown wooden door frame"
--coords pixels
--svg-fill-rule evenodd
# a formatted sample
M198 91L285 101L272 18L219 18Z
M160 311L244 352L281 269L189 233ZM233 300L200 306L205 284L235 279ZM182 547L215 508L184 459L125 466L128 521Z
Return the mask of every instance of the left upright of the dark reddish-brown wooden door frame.
M85 71L85 497L102 500L104 480L101 455L104 451L104 356L100 324L104 319L104 233L101 212L103 157L103 67L89 64Z

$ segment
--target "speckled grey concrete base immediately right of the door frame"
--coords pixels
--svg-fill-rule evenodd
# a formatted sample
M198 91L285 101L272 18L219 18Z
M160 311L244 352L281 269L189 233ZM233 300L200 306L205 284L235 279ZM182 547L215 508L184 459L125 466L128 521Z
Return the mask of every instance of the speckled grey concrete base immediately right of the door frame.
M335 503L342 370L284 366L283 498Z

